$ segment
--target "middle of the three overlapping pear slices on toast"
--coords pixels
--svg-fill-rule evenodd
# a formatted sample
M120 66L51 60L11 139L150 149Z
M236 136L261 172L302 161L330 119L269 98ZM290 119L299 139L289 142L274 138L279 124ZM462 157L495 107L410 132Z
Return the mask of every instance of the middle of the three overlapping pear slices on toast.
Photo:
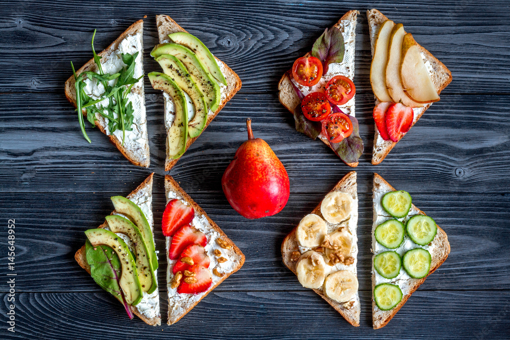
M397 23L390 33L388 61L386 62L385 70L386 88L393 102L402 102L405 106L412 108L423 107L423 103L414 101L404 93L402 83L400 82L400 60L402 57L404 35L404 26L401 23Z

